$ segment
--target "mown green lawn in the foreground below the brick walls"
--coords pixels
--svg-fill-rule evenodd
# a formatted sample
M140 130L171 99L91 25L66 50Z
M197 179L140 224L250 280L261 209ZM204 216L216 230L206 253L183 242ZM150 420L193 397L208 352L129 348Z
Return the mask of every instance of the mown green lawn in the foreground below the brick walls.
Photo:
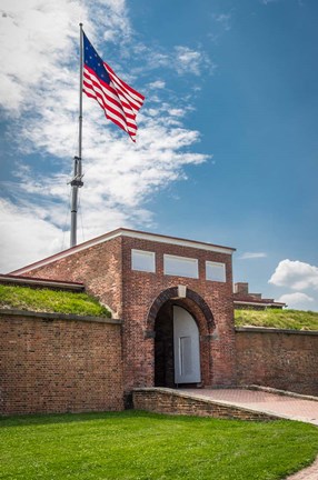
M1 479L274 480L309 464L318 429L146 412L0 419Z

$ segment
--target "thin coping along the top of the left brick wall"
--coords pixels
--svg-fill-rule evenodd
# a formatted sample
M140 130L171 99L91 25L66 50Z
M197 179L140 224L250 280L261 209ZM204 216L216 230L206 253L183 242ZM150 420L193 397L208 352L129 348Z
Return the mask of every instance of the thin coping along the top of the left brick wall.
M14 310L14 309L0 309L0 316L4 317L24 317L27 319L44 319L44 320L66 320L66 321L86 321L96 323L110 323L121 326L122 321L118 319L110 319L107 317L90 317L77 316L70 313L50 313L50 312L36 312L29 310Z

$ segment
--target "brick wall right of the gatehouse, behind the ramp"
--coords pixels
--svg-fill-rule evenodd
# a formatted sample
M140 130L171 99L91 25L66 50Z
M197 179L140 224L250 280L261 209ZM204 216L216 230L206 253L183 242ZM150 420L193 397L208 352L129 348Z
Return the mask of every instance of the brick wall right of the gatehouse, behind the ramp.
M318 332L240 328L238 384L318 396Z

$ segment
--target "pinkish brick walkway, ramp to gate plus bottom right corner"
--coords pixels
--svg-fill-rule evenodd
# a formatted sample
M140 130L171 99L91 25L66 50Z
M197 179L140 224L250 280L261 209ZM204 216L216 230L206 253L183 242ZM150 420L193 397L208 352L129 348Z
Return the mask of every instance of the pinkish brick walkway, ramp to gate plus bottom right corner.
M182 389L182 391L252 410L275 413L285 419L299 420L318 427L318 401L315 400L245 389ZM286 480L318 480L318 458L310 467L288 477Z

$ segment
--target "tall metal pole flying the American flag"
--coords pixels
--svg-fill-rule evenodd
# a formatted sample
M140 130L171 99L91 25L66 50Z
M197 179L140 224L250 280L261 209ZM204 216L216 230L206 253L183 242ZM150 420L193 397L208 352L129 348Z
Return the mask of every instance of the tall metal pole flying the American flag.
M78 189L83 186L82 182L82 168L81 168L81 152L82 152L82 23L80 27L80 96L79 96L79 144L78 156L74 157L73 163L73 178L71 184L71 232L70 232L70 247L77 244L77 212L78 212Z

